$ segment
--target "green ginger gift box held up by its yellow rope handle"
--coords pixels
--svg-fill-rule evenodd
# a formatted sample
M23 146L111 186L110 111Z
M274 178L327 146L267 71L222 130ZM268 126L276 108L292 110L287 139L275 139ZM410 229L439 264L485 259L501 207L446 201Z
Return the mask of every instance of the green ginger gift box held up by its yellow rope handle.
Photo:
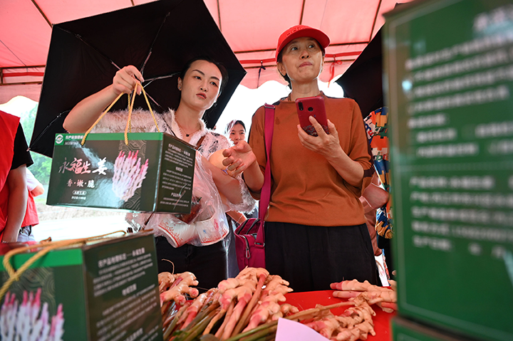
M57 134L46 204L190 213L195 149L161 132Z

